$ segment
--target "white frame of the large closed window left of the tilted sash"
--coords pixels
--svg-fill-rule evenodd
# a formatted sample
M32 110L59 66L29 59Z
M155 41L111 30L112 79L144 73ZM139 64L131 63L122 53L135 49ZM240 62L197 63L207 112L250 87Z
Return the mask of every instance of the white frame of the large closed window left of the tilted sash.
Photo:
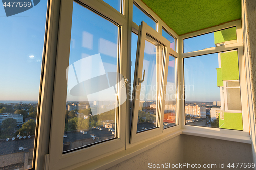
M69 153L63 154L63 128L65 123L66 108L66 93L67 83L65 82L65 69L69 64L69 49L72 26L72 11L73 2L61 1L60 7L60 25L58 34L57 59L55 71L55 84L53 92L53 109L52 123L50 132L50 147L49 147L49 169L62 169L68 166L79 163L86 163L97 160L99 157L107 156L115 152L125 149L125 110L126 102L118 107L118 134L117 138L101 142L99 144L90 145L86 148L78 149ZM95 10L105 19L117 23L120 27L120 56L119 56L119 71L126 76L126 49L127 49L127 19L108 4L100 1L79 1L80 5L89 10Z

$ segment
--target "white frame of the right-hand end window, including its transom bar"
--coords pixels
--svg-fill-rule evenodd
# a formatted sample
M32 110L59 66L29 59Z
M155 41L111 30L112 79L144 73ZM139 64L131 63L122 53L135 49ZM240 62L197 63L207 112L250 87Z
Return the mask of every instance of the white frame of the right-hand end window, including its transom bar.
M230 28L230 27L236 27L236 34L237 34L237 43L233 44L224 44L222 46L217 47L211 47L206 48L199 51L194 52L188 52L183 53L183 39L195 37L202 34L207 34L215 31L219 31L222 29ZM244 141L246 143L249 143L249 120L248 120L248 108L247 108L247 92L246 92L246 77L245 77L245 66L244 66L244 55L243 55L243 42L242 42L242 25L241 20L232 21L228 23L224 23L223 25L219 25L216 27L200 30L197 32L185 34L179 36L179 77L180 77L180 83L181 85L184 84L184 64L183 59L187 57L196 57L211 53L220 53L225 51L231 51L231 50L237 50L238 51L238 63L239 63L239 77L240 77L240 90L241 90L241 104L242 104L242 117L243 117L243 131L237 131L237 130L229 130L229 129L219 129L219 128L210 128L210 127L199 127L199 126L190 126L185 125L185 103L184 100L180 101L180 111L181 113L181 128L185 129L184 134L194 134L202 136L202 134L205 133L214 133L218 136L223 136L225 138L225 135L229 135L229 140L232 141ZM180 95L184 95L184 91L180 90ZM223 135L222 135L223 134ZM203 135L207 136L207 135Z

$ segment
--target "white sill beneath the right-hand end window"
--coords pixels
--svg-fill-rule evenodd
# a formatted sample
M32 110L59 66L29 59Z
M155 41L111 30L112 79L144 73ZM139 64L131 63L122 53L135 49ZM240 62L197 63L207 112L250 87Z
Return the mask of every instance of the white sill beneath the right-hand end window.
M183 129L182 134L251 144L251 138L249 136L249 133L248 133L248 136L240 136L240 135L232 135L232 134L224 134L224 133L216 133L216 132Z

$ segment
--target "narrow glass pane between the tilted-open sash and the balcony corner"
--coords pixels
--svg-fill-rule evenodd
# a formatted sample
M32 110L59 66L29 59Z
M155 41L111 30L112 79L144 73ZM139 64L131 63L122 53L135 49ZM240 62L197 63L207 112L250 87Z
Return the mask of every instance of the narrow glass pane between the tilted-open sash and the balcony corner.
M164 128L176 125L176 59L170 55L164 107Z

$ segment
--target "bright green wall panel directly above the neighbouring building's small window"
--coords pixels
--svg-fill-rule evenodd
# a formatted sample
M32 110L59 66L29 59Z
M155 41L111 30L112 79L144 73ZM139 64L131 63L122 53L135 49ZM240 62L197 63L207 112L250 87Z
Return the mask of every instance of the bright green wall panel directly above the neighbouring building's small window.
M222 80L239 80L237 51L221 53Z

